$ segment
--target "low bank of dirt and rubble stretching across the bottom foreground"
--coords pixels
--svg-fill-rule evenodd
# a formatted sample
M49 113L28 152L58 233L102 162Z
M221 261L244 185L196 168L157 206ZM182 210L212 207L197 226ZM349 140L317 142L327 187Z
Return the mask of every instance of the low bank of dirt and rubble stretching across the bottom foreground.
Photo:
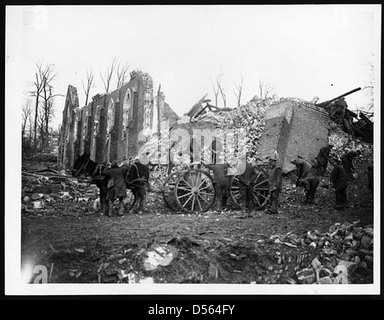
M325 233L227 241L184 236L166 244L126 245L99 261L98 282L373 283L373 228L359 221L336 223ZM193 279L191 264L196 267Z

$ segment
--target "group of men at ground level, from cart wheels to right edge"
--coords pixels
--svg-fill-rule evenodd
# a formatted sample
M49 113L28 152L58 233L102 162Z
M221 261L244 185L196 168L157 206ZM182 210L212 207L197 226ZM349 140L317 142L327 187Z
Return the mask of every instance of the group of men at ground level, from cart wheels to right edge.
M333 146L328 145L319 150L315 159L310 162L297 156L291 161L296 166L296 187L303 188L305 192L304 204L314 204L316 190L320 184L322 176L326 175L328 165L332 169L330 172L330 183L335 192L335 209L342 210L347 208L347 188L348 183L355 179L355 167L353 161L361 155L361 151L347 151L340 159L330 159L330 152ZM261 160L261 159L259 159ZM268 214L279 213L279 195L282 190L282 168L278 165L276 153L263 160L268 163L268 185L269 196L265 208ZM229 177L227 176L228 164L209 165L213 171L213 181L216 192L216 210L221 211L225 206L229 194ZM373 167L368 166L368 188L373 192ZM238 176L240 191L246 200L246 212L248 215L254 211L253 207L253 182L256 178L256 166L246 163L245 171Z

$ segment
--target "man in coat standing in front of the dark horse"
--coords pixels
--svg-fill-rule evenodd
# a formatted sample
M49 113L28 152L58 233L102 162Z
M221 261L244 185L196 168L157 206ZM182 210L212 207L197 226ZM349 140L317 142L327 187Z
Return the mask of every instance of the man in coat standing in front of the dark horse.
M127 187L125 184L125 175L127 174L128 166L119 167L117 161L113 161L111 167L103 171L103 175L108 178L107 184L107 216L112 215L113 203L119 199L119 216L124 214L123 198L127 196Z

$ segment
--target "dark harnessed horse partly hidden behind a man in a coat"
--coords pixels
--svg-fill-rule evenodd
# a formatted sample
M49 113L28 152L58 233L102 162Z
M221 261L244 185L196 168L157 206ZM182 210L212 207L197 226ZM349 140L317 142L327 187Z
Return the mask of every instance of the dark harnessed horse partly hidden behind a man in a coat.
M81 174L91 176L91 183L96 184L100 191L100 210L102 212L105 212L107 209L108 179L103 175L103 171L106 168L107 166L105 164L98 164L92 161L90 155L87 153L78 156L71 168L73 177L78 177ZM149 186L148 167L140 162L128 164L128 170L124 180L127 188L130 189L134 195L132 210L144 212Z

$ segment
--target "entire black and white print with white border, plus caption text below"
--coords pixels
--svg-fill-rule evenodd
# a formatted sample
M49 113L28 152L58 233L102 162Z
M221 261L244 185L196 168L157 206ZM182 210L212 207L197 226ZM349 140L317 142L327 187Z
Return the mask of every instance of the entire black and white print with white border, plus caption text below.
M5 295L379 295L381 10L6 5Z

